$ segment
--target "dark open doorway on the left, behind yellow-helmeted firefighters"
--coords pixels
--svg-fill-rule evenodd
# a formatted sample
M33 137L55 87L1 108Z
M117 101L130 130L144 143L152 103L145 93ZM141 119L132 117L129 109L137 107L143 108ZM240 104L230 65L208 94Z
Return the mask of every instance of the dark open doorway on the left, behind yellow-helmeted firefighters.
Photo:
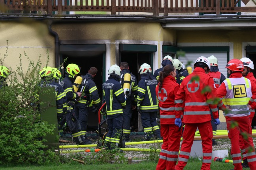
M96 67L98 73L94 77L94 82L102 100L102 84L105 81L105 44L65 44L60 45L60 63L64 59L64 68L70 63L81 67L80 76L88 73L90 67ZM63 70L63 76L64 70ZM98 129L98 114L89 113L87 131Z

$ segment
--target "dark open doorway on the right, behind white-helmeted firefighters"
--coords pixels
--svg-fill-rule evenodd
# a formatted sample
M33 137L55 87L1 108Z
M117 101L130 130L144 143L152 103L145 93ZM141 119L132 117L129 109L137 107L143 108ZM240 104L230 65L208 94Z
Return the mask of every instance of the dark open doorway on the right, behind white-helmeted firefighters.
M120 62L127 62L130 68L130 72L137 78L139 83L141 76L139 74L139 67L143 63L147 63L152 68L152 53L150 52L120 52ZM138 131L138 113L137 110L132 111L131 119L131 132Z

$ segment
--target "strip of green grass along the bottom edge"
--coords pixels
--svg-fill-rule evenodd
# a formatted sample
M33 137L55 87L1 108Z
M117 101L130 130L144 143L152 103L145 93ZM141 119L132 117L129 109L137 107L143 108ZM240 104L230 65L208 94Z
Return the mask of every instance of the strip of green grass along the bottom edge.
M49 166L0 166L4 170L56 170L56 169L75 169L75 170L155 170L154 162L142 162L137 164L58 164ZM184 170L200 170L202 162L198 159L190 159ZM211 170L230 170L233 168L231 163L212 162ZM244 168L249 170L249 168Z

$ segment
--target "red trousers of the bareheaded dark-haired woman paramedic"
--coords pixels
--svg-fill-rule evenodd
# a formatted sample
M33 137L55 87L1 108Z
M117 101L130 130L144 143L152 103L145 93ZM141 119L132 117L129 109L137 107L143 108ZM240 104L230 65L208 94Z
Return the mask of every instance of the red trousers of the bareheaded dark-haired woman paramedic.
M182 128L174 124L161 124L162 150L156 170L174 170L179 155Z

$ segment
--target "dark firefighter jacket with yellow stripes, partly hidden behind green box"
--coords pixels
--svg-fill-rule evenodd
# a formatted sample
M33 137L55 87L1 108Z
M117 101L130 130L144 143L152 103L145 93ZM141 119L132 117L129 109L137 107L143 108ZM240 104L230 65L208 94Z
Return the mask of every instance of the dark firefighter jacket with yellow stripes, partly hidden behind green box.
M59 85L58 83L56 83L54 80L53 81L41 81L40 83L41 87L53 87L55 88L55 98L56 98L56 108L57 108L57 113L58 114L62 114L63 110L63 104L65 103L65 97L66 94L64 92L64 89L61 85Z

